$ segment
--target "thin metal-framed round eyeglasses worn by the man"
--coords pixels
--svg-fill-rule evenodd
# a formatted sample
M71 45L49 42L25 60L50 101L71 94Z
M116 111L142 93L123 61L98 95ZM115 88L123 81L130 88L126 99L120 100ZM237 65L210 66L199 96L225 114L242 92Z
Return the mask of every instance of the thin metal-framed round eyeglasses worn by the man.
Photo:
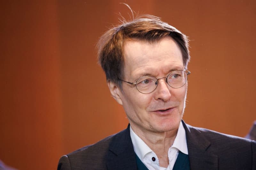
M176 70L168 74L167 77L162 77L159 79L165 78L165 81L167 84L169 84L169 86L175 89L180 88L184 86L184 84L187 82L188 74L190 74L190 71L188 71L186 68L184 69L185 71ZM121 79L119 80L127 82L129 84L136 85L136 88L140 93L147 94L147 93L153 92L156 89L159 79L153 76L144 76L144 77L140 77L135 83L124 81Z

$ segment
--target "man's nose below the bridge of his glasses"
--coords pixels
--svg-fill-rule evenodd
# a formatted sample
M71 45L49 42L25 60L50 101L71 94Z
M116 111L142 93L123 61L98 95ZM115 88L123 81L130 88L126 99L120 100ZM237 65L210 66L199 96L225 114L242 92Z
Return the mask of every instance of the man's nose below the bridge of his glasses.
M158 85L155 90L155 99L164 102L169 101L171 98L170 86L167 84L166 79L158 79Z

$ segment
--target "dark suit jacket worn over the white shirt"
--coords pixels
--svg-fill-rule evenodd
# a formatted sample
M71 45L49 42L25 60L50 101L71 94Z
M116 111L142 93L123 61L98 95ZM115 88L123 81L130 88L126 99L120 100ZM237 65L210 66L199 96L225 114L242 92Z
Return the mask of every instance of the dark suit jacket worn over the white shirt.
M191 170L256 170L256 142L185 124ZM60 158L58 170L136 170L130 129Z

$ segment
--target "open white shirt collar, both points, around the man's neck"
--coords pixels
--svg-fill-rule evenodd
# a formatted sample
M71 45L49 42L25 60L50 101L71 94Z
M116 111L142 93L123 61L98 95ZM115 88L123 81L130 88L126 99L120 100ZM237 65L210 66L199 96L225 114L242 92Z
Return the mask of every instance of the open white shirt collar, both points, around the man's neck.
M134 152L137 154L137 156L140 158L140 160L143 160L144 156L147 153L153 152L148 147L148 145L138 135L136 135L134 133L131 126L130 126L130 136L131 136L131 139L132 139L132 145L133 145ZM173 142L171 147L175 147L180 152L185 153L185 154L188 155L186 132L185 132L185 129L184 129L181 122L180 122L180 126L179 126L179 129L178 129L176 138L174 139L174 142Z

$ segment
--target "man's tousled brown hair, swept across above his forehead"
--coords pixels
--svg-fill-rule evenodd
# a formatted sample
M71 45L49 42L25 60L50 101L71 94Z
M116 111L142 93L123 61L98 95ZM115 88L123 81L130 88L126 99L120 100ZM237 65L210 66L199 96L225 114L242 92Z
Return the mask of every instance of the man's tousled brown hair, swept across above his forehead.
M124 21L103 34L97 44L98 61L105 71L106 78L119 87L123 79L124 42L128 39L138 39L146 42L156 42L165 36L170 36L180 46L183 64L186 68L190 59L188 38L175 27L161 21L152 15L141 15L130 22Z

